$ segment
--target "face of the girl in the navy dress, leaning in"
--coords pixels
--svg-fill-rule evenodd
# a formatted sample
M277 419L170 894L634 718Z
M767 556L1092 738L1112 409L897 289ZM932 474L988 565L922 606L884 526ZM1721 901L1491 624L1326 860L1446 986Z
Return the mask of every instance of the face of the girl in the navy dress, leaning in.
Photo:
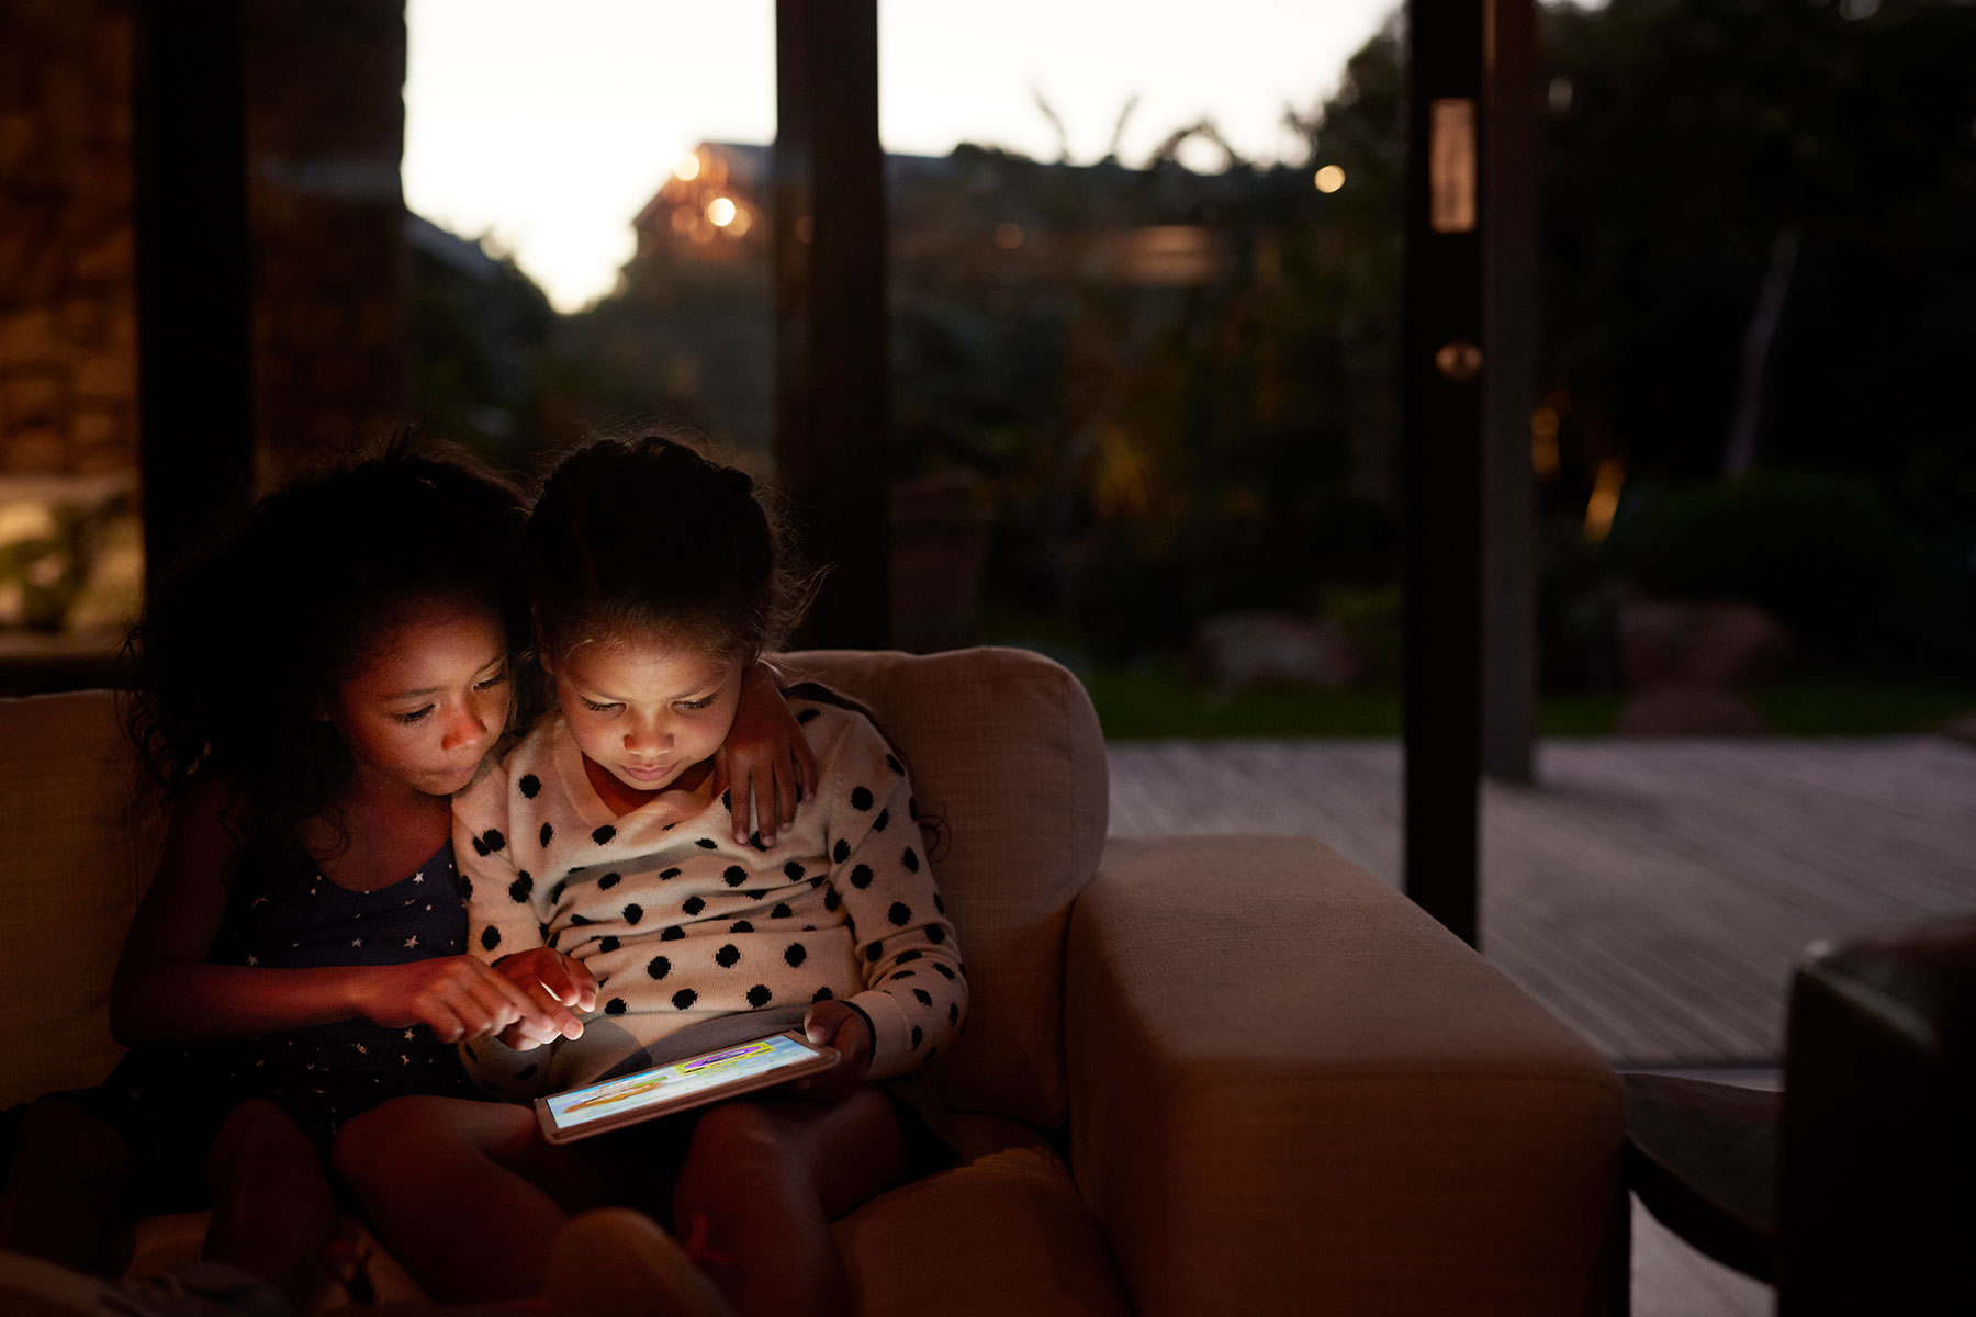
M508 634L482 604L431 602L336 687L328 719L362 770L425 796L474 778L508 727Z

